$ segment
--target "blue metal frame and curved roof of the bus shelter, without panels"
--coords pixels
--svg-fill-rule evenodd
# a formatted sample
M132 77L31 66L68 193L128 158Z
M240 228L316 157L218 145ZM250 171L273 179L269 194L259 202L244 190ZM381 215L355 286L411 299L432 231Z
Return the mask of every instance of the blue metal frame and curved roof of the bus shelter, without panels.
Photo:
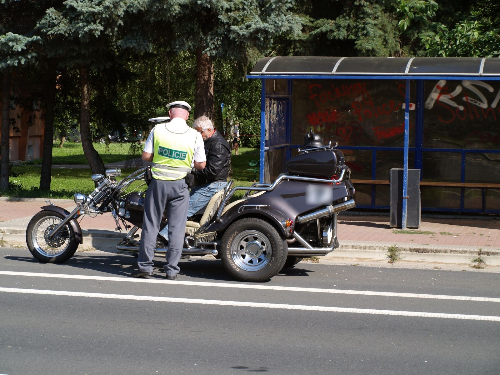
M261 92L261 128L260 128L260 165L264 165L265 151L271 148L288 147L286 158L290 157L290 147L299 145L290 144L291 137L291 100L290 105L284 109L284 126L286 132L286 141L283 144L273 145L268 147L265 144L266 134L266 99L272 98L273 94L266 94L266 81L268 79L285 79L287 80L287 93L277 94L277 98L291 99L291 82L296 79L388 79L388 80L405 80L405 109L404 109L404 145L403 145L403 183L402 196L407 196L407 175L408 175L408 152L415 150L409 147L409 122L410 122L410 82L416 82L416 113L415 122L420 124L423 121L423 83L425 80L500 80L500 58L479 58L479 57L316 57L316 56L275 56L265 57L259 60L248 78L257 78L262 81ZM267 118L268 120L268 118ZM421 137L418 132L415 137ZM339 146L338 148L351 148L355 146ZM370 147L363 147L369 149ZM383 147L371 147L373 152L383 149ZM394 150L393 147L390 148ZM425 150L425 148L420 148ZM435 151L436 149L432 149ZM483 152L483 149L450 149L445 151L461 153L461 182L464 182L465 168L465 151L466 152ZM500 150L487 150L488 152L500 153ZM372 159L375 163L375 159ZM415 160L415 167L420 168L421 159ZM264 169L260 168L260 181L264 181ZM372 179L375 179L375 168L372 168ZM372 189L375 186L372 185ZM484 190L483 190L484 191ZM462 194L463 195L463 194ZM373 196L373 195L372 195ZM484 201L484 192L483 192ZM372 202L373 203L373 202ZM365 206L370 208L370 206ZM463 196L461 197L460 210L463 210ZM385 207L385 208L388 208ZM402 227L406 227L406 200L402 201ZM439 210L443 210L440 208ZM500 213L498 210L480 210L472 209L469 211L476 212L494 212Z

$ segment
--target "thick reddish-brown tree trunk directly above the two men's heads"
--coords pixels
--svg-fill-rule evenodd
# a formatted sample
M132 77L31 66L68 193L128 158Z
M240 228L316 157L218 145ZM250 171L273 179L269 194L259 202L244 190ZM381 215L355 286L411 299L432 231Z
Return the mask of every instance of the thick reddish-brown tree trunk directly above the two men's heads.
M213 110L213 60L201 49L196 49L196 93L194 118L207 116L214 119Z

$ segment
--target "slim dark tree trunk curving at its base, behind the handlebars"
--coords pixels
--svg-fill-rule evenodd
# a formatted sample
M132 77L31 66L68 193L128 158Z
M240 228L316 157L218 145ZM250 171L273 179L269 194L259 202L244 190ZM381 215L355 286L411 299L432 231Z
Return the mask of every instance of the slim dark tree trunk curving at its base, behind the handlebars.
M90 82L88 67L80 67L80 135L83 153L87 158L92 174L104 174L104 162L99 153L93 148L92 134L90 133Z

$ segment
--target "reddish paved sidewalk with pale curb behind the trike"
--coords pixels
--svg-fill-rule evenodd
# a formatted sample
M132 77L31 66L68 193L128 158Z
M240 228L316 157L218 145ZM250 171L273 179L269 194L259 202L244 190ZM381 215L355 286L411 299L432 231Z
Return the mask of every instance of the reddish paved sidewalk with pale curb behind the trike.
M0 197L0 239L9 245L25 246L25 229L30 218L46 205L42 198ZM71 211L69 199L51 199ZM79 220L84 235L82 249L117 251L123 232L115 231L111 214ZM340 248L320 257L320 262L390 266L387 250L397 246L403 259L397 267L471 268L471 260L482 251L486 271L500 272L500 219L484 217L423 216L418 229L389 227L388 215L366 215L355 211L338 216Z

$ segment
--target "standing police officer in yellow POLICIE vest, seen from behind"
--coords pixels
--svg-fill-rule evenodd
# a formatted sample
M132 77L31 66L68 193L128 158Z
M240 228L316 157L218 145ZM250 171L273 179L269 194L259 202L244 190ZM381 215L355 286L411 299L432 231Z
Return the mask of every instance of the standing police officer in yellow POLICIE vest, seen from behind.
M153 274L153 256L156 234L166 205L168 220L168 251L164 266L166 278L175 279L184 241L184 230L189 204L189 190L185 182L191 167L205 167L205 150L201 134L187 126L191 106L183 100L167 104L170 122L157 124L149 133L142 150L142 160L152 161L152 180L144 199L144 219L140 238L138 271L132 277Z

